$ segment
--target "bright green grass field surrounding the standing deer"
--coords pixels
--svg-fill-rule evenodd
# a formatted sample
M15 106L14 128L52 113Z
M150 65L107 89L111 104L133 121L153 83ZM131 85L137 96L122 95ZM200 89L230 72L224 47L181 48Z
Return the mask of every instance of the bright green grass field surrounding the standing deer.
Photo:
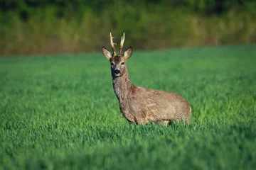
M134 51L128 70L188 99L191 125L129 124L100 52L0 58L0 169L255 169L256 45Z

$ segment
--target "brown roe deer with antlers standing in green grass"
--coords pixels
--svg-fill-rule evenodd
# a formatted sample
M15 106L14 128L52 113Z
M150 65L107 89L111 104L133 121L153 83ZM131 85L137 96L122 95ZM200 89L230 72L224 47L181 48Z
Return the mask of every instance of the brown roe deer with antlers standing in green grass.
M119 101L119 109L129 123L146 125L160 123L190 123L191 106L182 96L167 91L147 89L135 86L129 79L127 60L132 56L132 46L122 53L124 33L119 45L119 54L115 50L117 43L110 33L113 53L102 47L102 53L110 60L112 86Z

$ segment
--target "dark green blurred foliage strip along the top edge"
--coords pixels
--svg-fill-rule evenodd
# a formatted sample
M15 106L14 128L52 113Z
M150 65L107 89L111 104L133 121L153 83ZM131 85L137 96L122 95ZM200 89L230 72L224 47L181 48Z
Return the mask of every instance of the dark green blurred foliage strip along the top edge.
M242 8L245 11L253 12L256 8L254 0L27 0L27 1L0 1L1 11L18 11L22 18L33 16L35 8L44 8L46 6L55 6L62 14L70 12L80 13L81 8L90 8L101 11L106 8L122 8L127 4L144 8L183 8L186 11L203 14L221 14L226 13L233 8ZM139 8L138 8L139 9ZM26 13L26 14L25 14Z

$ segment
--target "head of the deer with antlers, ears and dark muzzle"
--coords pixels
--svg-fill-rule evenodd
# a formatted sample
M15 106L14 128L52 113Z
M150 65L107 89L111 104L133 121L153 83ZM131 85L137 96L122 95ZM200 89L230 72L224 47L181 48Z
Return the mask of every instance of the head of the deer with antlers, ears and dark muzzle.
M123 35L120 42L119 55L117 55L117 52L114 48L114 45L117 45L117 43L113 42L113 38L114 37L112 37L110 33L110 44L112 46L113 54L111 55L110 51L105 47L102 47L102 53L107 58L107 60L110 60L112 77L121 77L126 70L127 59L132 55L132 47L128 47L127 50L124 51L124 54L122 54L122 47L124 46Z

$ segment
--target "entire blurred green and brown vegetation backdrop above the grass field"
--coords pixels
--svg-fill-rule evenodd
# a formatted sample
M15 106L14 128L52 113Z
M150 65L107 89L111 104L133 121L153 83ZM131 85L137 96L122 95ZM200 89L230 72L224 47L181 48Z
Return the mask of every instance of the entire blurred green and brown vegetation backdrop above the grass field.
M0 0L0 55L256 42L255 0Z

